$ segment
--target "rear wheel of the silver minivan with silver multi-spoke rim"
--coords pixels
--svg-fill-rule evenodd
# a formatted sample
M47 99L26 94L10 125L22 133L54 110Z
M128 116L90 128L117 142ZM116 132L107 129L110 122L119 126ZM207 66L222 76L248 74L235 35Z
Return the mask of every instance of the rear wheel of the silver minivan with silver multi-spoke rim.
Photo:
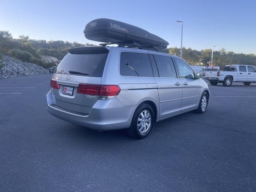
M154 125L154 110L146 103L140 104L132 117L130 128L127 133L135 139L142 139L148 136Z

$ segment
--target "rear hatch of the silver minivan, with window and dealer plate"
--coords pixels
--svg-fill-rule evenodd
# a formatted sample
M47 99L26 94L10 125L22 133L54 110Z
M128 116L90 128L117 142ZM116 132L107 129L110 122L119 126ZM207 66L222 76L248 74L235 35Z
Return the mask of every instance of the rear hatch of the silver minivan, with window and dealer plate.
M88 46L68 51L52 76L51 90L56 99L55 107L87 115L98 96L79 93L81 85L91 86L92 92L100 85L109 50L106 47Z

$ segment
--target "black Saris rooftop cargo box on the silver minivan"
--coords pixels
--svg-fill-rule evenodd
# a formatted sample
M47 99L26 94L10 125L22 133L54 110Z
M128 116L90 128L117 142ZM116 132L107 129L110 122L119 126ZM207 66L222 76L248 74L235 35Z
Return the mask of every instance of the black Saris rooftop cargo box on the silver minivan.
M105 18L89 22L85 26L84 36L89 40L123 46L165 49L169 45L167 41L142 28Z

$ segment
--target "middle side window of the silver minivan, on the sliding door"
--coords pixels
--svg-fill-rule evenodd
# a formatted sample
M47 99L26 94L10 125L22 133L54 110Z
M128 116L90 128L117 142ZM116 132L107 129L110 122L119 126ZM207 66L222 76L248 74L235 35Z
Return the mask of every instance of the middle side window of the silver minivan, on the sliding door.
M171 57L154 55L154 58L160 77L177 78Z

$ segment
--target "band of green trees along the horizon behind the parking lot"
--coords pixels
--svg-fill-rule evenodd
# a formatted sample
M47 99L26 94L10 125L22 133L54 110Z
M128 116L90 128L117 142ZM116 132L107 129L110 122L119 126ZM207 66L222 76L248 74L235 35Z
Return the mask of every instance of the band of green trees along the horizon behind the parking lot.
M28 36L21 35L18 39L14 39L8 31L0 31L0 52L9 54L24 61L34 62L40 65L42 55L53 56L59 60L63 59L68 53L69 48L80 46L93 46L93 44L81 44L78 42L68 42L62 40L33 40ZM191 48L182 48L183 58L191 65L208 66L212 59L212 50L194 50ZM172 47L161 52L170 53L180 56L180 48ZM243 54L226 51L224 48L214 51L213 63L215 66L223 68L226 64L248 64L256 65L255 54Z

